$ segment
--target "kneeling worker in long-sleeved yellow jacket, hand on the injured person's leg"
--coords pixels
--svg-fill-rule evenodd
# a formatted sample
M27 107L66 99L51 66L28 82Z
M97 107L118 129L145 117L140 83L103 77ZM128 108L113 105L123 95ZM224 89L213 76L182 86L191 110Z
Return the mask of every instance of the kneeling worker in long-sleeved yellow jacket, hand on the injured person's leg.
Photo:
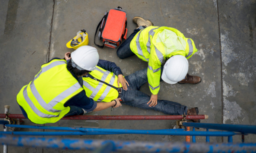
M147 77L151 106L157 105L157 94L160 89L160 68L165 64L162 80L169 84L198 84L201 78L191 76L188 72L188 61L197 49L194 41L174 28L154 27L150 20L134 17L137 29L118 48L117 56L121 59L137 55L148 62Z

